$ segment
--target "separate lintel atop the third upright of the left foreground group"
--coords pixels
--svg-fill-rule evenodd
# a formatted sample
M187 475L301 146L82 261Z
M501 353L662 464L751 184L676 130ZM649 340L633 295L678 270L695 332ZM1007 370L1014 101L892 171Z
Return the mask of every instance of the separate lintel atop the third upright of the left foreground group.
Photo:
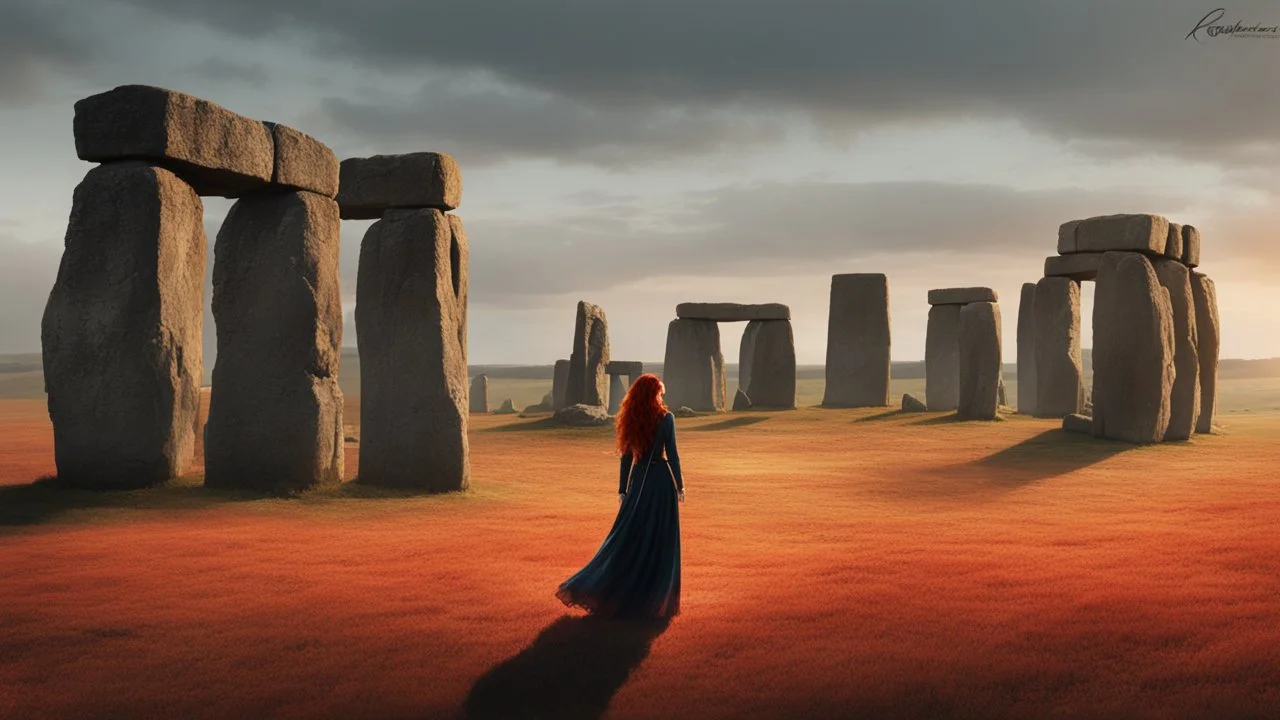
M454 210L460 202L462 172L443 152L348 158L339 167L338 205L344 220L371 220L392 208Z

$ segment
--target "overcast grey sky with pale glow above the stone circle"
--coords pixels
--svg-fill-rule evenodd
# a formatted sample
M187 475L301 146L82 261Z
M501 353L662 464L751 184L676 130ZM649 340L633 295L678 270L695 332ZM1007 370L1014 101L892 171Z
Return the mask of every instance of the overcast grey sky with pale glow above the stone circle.
M678 302L783 302L820 364L855 272L888 274L895 360L924 356L929 288L989 286L1012 361L1059 224L1111 213L1199 227L1222 355L1280 356L1280 33L1188 37L1215 8L1185 0L961 5L0 0L0 352L40 348L91 167L73 104L143 83L339 158L457 158L474 364L566 357L579 300L648 361ZM1280 5L1204 20L1236 22ZM206 199L210 251L229 206ZM369 224L342 228L349 346Z

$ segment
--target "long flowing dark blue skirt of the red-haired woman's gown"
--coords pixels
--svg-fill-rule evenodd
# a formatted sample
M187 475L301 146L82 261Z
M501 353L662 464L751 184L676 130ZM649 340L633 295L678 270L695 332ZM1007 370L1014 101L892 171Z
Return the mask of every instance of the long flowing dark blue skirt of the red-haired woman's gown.
M627 495L600 550L556 597L600 618L680 612L680 501L666 460L631 469Z

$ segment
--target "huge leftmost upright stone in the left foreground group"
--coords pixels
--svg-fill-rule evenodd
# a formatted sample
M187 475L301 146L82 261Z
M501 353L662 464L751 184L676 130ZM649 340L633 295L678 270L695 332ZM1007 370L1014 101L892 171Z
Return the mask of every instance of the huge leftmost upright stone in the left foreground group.
M76 187L41 323L61 482L131 488L191 465L200 410L205 225L200 196L143 163Z

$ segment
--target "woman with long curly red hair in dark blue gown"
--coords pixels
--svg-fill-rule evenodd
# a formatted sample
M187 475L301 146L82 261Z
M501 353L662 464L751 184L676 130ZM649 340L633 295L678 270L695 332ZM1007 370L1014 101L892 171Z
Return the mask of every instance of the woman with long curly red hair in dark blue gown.
M676 452L676 418L662 401L664 392L658 375L645 373L622 398L617 419L621 507L595 557L556 591L564 605L600 618L680 612L677 503L685 501L685 482Z

